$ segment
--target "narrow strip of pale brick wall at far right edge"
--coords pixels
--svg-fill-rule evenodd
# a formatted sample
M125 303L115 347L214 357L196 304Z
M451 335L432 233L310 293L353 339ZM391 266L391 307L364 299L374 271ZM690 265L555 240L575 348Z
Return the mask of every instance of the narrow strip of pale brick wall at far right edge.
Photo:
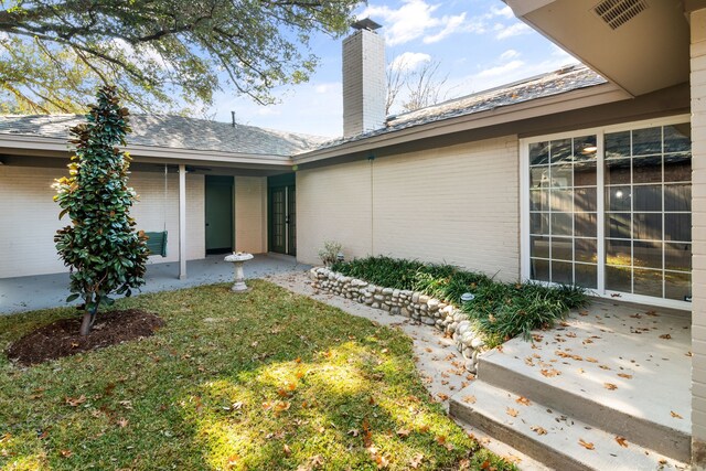
M706 469L706 9L691 15L692 28L692 454Z

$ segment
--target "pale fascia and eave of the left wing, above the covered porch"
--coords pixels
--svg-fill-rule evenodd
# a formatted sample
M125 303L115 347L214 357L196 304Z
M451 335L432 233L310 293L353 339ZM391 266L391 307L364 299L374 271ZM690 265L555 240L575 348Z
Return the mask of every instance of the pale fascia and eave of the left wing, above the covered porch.
M263 170L287 170L292 165L291 159L285 156L231 153L152 146L127 146L125 150L130 153L136 162L147 163L210 163L224 168ZM71 152L71 148L63 139L28 135L0 135L0 153L66 158Z

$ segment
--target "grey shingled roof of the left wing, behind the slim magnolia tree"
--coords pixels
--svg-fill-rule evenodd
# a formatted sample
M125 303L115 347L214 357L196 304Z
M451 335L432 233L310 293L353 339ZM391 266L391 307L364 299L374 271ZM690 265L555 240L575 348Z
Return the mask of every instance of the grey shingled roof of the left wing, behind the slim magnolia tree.
M0 135L68 139L82 115L0 116ZM131 115L128 142L171 149L289 157L314 149L325 138L170 115Z

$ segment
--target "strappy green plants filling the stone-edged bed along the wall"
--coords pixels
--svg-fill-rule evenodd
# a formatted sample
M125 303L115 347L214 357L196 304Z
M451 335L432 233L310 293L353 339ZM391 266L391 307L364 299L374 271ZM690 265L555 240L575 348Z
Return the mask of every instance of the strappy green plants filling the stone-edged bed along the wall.
M530 339L533 329L554 325L570 309L588 300L577 287L504 283L451 265L417 260L367 257L336 263L331 268L378 286L420 291L454 306L461 304L461 295L472 292L475 299L461 308L474 320L490 346L516 335Z

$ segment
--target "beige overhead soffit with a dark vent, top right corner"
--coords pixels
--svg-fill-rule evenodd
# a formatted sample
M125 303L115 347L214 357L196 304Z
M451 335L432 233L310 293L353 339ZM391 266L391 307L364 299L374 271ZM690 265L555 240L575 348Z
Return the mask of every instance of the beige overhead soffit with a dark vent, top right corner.
M633 96L688 82L688 4L682 1L504 1L522 21ZM596 10L600 4L624 14L610 25L612 17Z

